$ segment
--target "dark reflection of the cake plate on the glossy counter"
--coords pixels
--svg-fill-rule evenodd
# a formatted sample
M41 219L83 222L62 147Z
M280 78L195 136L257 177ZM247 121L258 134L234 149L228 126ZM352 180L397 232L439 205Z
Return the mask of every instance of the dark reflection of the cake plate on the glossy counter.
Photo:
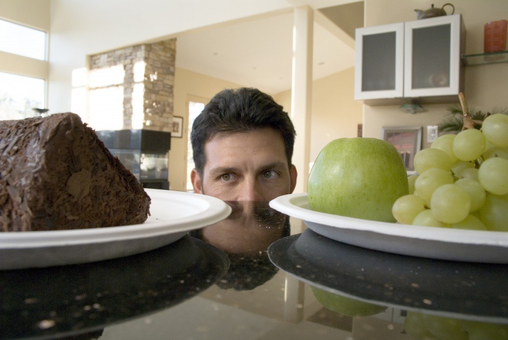
M185 235L170 245L119 259L2 270L0 338L71 338L100 332L195 296L219 280L228 266L226 254Z

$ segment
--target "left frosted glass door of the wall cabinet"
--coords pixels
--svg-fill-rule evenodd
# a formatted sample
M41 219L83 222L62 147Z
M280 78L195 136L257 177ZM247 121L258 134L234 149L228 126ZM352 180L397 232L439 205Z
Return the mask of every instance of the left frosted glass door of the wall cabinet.
M355 99L403 95L404 24L356 29Z

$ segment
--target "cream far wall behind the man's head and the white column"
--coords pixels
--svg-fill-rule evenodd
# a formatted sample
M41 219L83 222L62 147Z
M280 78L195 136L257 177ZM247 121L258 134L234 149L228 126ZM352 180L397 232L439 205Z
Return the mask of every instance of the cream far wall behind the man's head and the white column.
M177 41L178 46L178 41ZM177 47L178 49L178 47ZM354 69L344 70L313 82L310 159L337 138L356 137L362 123L362 105L353 99ZM188 133L188 100L198 97L205 103L225 88L239 84L208 77L178 68L175 72L174 115L183 117L183 138L171 139L169 181L171 190L185 190L185 169ZM291 112L291 90L275 94L275 101ZM297 131L298 138L298 131ZM295 153L300 150L295 150ZM303 176L299 177L302 180Z

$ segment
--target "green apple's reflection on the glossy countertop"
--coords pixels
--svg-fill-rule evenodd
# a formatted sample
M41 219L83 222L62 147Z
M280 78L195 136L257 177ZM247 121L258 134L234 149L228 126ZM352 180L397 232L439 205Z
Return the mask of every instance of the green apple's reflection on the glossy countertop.
M370 316L387 309L387 307L337 295L313 286L310 286L310 289L323 307L346 316Z

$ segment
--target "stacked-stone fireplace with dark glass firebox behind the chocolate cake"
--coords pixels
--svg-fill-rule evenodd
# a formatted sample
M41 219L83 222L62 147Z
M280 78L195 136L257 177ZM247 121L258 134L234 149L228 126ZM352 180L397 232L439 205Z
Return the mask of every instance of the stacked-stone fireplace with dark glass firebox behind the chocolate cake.
M92 55L87 120L146 188L169 189L176 39Z

